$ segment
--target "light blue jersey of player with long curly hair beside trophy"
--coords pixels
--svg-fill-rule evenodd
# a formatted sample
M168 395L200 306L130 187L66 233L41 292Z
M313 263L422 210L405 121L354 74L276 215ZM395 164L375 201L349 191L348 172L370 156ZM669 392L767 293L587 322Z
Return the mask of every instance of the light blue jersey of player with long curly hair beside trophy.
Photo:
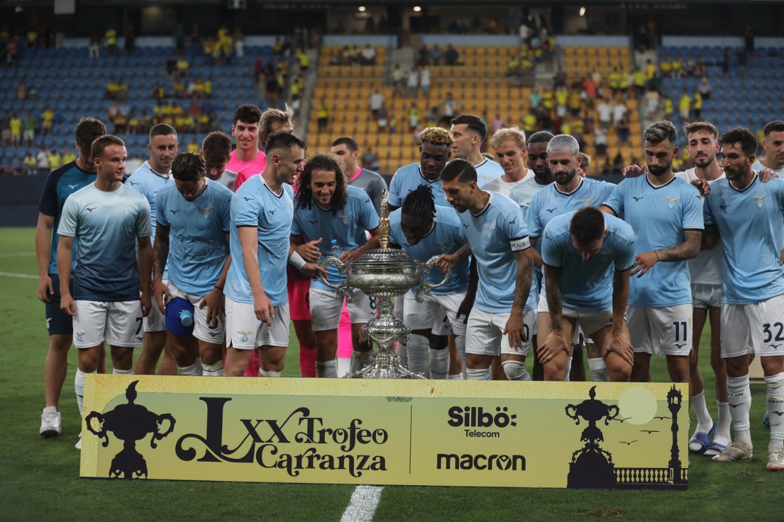
M358 187L348 186L346 194L346 206L332 214L332 209L324 210L313 200L310 201L310 208L297 207L291 226L291 235L299 236L304 234L310 241L321 238L318 243L318 250L321 257L331 255L332 239L336 239L343 252L357 250L367 243L366 230L373 230L379 226L379 214L376 214L376 207L364 190ZM346 275L341 275L335 265L327 267L329 283L336 285L346 279ZM332 290L321 279L310 282L311 288L321 290Z

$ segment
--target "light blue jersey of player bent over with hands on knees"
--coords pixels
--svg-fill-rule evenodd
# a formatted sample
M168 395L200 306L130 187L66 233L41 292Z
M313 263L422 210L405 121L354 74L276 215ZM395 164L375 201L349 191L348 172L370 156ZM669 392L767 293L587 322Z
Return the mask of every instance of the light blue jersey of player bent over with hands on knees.
M574 212L553 218L544 229L542 261L563 269L561 299L564 307L604 310L612 307L613 272L623 272L634 264L634 231L622 219L604 216L601 250L587 261L575 250L569 225Z

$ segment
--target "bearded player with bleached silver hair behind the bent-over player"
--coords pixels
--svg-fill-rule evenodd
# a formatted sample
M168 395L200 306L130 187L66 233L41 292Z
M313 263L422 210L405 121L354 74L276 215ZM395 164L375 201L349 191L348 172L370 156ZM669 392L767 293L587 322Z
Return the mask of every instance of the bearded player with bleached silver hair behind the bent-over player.
M535 264L540 265L539 239L551 219L558 215L576 211L583 207L593 207L601 204L611 193L615 185L612 183L597 182L591 178L582 178L578 175L583 158L579 153L577 140L570 135L557 135L547 142L547 165L555 180L539 190L531 198L530 206L525 217L531 244L535 247L533 254ZM527 306L534 306L539 314L547 313L546 285L540 285L538 297L528 297ZM537 324L537 339L539 339L539 325ZM579 331L573 330L572 345L579 344ZM539 352L537 352L539 353ZM572 352L573 353L573 352ZM573 355L568 355L566 375L570 375ZM579 353L579 362L582 363L583 354ZM607 380L607 367L601 352L596 347L588 351L588 365L593 373L594 380Z

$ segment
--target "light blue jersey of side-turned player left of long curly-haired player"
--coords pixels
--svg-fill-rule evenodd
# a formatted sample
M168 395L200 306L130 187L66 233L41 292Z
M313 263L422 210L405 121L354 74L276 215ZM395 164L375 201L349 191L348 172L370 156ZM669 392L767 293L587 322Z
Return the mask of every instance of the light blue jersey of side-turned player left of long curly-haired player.
M283 185L279 194L273 193L264 179L252 176L231 198L231 228L229 250L234 260L229 267L223 293L232 301L252 303L253 293L245 263L238 227L256 229L256 255L261 272L261 285L273 306L289 302L286 291L286 263L289 262L289 234L294 216L294 191Z

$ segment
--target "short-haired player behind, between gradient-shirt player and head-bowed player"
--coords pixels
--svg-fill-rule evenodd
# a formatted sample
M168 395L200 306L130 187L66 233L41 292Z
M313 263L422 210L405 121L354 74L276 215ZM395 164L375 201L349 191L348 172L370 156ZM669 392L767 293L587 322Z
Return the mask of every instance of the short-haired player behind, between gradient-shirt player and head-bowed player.
M171 125L154 125L150 129L150 141L147 143L150 159L137 168L125 182L131 189L136 190L136 192L147 198L147 202L150 203L150 215L153 222L158 216L158 207L155 204L156 194L165 186L173 184L171 179L172 161L177 155L178 146L177 131ZM154 246L154 230L150 241ZM168 275L164 271L164 281L168 279ZM144 347L139 358L136 359L137 374L152 375L155 373L155 365L158 364L158 358L161 358L163 353L158 373L161 375L176 375L176 362L172 355L164 350L165 343L165 317L158 310L158 307L153 307L150 315L147 315L147 319L144 320Z

